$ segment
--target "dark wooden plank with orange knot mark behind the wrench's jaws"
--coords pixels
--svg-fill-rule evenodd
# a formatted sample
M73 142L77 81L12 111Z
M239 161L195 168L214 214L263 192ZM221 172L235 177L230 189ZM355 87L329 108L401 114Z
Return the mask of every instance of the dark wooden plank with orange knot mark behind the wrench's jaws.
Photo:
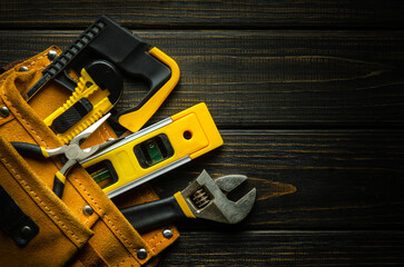
M203 169L213 177L244 174L249 181L242 192L256 187L257 202L252 216L231 229L403 228L403 131L221 134L221 148L154 181L161 197L185 188ZM186 221L179 227L203 230L207 224Z

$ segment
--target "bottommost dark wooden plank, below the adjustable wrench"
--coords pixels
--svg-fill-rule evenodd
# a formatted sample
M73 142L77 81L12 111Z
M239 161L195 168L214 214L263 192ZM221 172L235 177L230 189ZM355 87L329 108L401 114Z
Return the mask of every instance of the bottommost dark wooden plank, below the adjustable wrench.
M402 231L190 231L168 249L162 266L402 266L403 237Z

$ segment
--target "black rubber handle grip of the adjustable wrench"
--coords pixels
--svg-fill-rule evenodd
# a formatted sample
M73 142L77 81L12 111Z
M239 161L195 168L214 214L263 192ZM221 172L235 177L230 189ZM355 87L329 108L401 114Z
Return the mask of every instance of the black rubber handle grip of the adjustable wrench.
M139 233L186 218L174 196L125 208L120 211Z

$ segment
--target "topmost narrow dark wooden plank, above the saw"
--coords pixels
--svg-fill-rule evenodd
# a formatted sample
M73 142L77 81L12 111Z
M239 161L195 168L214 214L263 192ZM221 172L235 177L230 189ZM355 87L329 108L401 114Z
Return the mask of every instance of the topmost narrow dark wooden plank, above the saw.
M0 28L86 28L101 14L136 28L402 28L402 2L318 1L18 1L0 2Z

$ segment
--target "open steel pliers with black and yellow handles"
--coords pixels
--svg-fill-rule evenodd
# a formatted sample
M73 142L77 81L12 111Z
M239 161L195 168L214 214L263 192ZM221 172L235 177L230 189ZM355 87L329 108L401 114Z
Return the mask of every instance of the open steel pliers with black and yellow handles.
M69 169L73 165L76 165L76 162L92 156L97 151L100 151L119 140L119 139L108 139L106 142L100 145L96 145L85 149L80 148L80 144L82 144L82 141L85 141L89 136L91 136L91 134L95 132L97 128L100 127L109 117L110 113L107 113L97 122L95 122L93 125L81 131L79 135L77 135L70 141L69 145L65 145L62 147L46 149L43 147L28 142L11 142L11 145L16 148L16 150L19 154L32 157L49 158L58 155L65 155L67 161L63 165L63 167L58 172L56 172L53 180L53 189L52 189L53 192L59 198L61 198L65 188L66 175L69 171Z

